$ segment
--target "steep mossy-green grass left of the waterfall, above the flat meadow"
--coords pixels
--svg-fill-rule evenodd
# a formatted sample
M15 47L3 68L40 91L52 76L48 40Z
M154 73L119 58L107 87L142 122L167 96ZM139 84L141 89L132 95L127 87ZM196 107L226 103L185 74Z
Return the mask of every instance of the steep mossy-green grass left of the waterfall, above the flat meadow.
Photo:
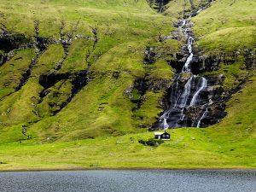
M92 47L92 41L84 39L74 40L69 47L69 55L58 73L76 72L90 65L90 73L94 78L90 79L89 84L73 98L67 108L55 117L50 117L54 108L50 108L49 103L51 101L61 102L63 98L53 98L49 101L54 95L51 94L45 97L43 102L35 105L38 92L43 90L43 87L39 84L36 86L32 84L38 82L39 75L54 72L56 63L61 61L63 55L61 45L50 45L33 67L32 78L29 79L28 84L0 102L3 105L0 122L4 130L11 131L19 129L21 125L27 125L30 127L31 137L43 137L44 139L54 135L58 139L70 140L135 132L137 126L145 121L148 125L154 122L154 117L160 113L160 108L157 107L164 90L148 91L147 94L151 96L143 103L148 107L144 108L143 114L139 113L140 116L143 115L143 121L137 118L136 113L131 112L135 104L124 95L124 91L131 87L134 79L144 78L146 73L149 74L148 79L169 80L172 78L172 68L165 61L156 63L149 71L144 68L143 64L145 47L148 44L156 44L159 32L166 34L172 32L171 18L154 13L145 1L133 0L77 1L77 3L3 1L0 5L0 12L4 15L0 21L7 30L24 33L28 37L35 34L34 22L38 22L39 36L44 38L58 40L61 23L64 24L63 32L75 31L75 34L89 37L93 36L91 28L98 28L99 38L95 49ZM165 44L163 44L163 49L171 46L171 51L178 50L179 44L175 41L169 41L166 47ZM85 55L89 53L88 60L85 60ZM26 65L28 64L27 62ZM6 64L3 68L4 66ZM15 70L18 69L15 68ZM120 73L118 80L113 78L113 73ZM18 80L15 84L17 83ZM52 92L56 92L57 87L58 84L55 84ZM11 91L8 89L9 87L4 86L0 88L5 96L9 93L8 91ZM21 94L25 90L29 92L28 96ZM70 93L68 82L66 86L61 86L61 92L68 96ZM16 105L14 103L19 102L15 95L20 96L19 101L24 101L24 106L20 108L33 105L33 108L30 107L27 112L30 115L25 113L23 115L20 109L12 108ZM16 119L18 113L20 117ZM38 120L40 122L35 124ZM14 137L23 138L22 135L14 135Z

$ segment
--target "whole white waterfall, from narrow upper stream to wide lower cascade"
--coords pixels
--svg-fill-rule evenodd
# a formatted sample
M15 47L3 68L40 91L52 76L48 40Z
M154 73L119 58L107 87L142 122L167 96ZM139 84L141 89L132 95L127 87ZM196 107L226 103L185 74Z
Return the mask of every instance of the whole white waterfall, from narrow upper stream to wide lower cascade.
M199 9L197 12L199 13L203 9L206 8ZM191 15L189 16L189 19L190 18ZM160 116L160 128L164 128L165 130L192 125L191 122L187 122L189 119L186 116L186 111L192 107L198 107L201 108L201 110L204 110L205 106L205 104L201 104L200 97L201 92L207 90L207 79L204 77L199 78L191 72L191 62L194 58L193 44L195 39L190 33L191 25L188 25L190 24L189 19L182 20L178 26L178 28L183 32L183 35L187 38L186 47L189 52L189 56L187 57L181 72L177 73L176 78L174 79L170 96L170 106ZM182 83L181 79L183 79L184 76L188 78L185 83ZM201 120L206 118L207 113L208 109L206 108L205 112L197 118L199 119L197 127L201 126Z

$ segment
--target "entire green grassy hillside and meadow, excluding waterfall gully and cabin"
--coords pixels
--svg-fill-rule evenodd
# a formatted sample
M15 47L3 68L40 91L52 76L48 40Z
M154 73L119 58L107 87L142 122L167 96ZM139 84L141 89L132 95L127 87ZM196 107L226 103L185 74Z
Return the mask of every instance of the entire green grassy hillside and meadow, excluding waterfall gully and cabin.
M201 74L224 76L216 86L231 93L225 118L138 143L153 137L168 61L186 44L175 24L207 2L171 0L160 14L146 0L2 0L0 170L255 168L253 0L216 0L191 18L200 59L218 62Z

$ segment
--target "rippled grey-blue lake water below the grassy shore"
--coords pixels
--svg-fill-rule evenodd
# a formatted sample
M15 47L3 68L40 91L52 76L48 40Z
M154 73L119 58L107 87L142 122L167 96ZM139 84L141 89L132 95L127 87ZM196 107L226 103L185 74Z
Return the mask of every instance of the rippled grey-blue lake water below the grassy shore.
M256 171L0 172L1 192L256 192Z

